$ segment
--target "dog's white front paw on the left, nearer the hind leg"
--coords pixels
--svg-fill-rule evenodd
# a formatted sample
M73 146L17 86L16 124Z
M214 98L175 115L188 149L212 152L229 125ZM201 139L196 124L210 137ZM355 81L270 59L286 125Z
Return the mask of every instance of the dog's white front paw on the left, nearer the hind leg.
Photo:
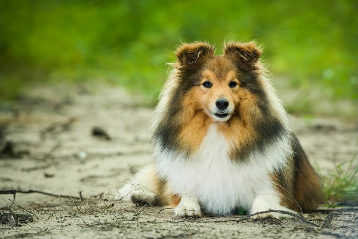
M190 196L182 196L178 206L174 208L175 216L200 218L201 211L197 199Z

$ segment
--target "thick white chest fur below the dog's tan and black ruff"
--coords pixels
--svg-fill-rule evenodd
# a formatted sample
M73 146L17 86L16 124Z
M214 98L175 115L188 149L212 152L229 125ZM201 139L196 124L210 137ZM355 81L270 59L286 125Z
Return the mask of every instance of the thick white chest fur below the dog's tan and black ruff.
M236 207L249 210L258 194L274 190L269 174L284 167L289 142L280 139L264 154L254 152L247 162L240 163L228 156L231 144L213 124L189 159L174 153L156 154L154 149L156 171L175 194L195 196L204 211L229 214Z

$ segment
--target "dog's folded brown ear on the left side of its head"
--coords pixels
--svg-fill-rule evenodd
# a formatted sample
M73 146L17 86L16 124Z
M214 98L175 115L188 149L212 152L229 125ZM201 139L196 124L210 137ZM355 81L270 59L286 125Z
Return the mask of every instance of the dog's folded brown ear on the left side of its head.
M214 51L215 47L208 43L184 43L176 50L175 55L181 67L189 68L198 66L205 58L213 57Z

